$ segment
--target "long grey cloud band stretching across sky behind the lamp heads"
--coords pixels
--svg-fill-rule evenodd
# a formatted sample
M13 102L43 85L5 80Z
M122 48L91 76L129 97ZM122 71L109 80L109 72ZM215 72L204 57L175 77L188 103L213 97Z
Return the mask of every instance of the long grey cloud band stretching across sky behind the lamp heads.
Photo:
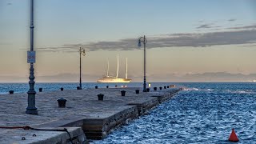
M222 45L245 45L256 43L256 25L230 27L227 31L206 33L180 33L150 36L147 38L146 48L162 47L207 47ZM86 51L98 50L138 50L138 38L125 38L118 41L101 41L91 43L65 44L63 46L45 46L35 48L39 51L78 52L79 47Z

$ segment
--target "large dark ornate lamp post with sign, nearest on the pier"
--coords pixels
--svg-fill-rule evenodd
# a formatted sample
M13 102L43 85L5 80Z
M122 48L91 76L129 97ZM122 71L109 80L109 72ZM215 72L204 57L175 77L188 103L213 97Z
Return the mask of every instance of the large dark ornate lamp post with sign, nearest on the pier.
M27 52L27 62L30 63L30 90L28 90L28 106L26 107L26 114L38 114L38 110L35 107L35 90L34 90L34 0L30 0L30 51Z

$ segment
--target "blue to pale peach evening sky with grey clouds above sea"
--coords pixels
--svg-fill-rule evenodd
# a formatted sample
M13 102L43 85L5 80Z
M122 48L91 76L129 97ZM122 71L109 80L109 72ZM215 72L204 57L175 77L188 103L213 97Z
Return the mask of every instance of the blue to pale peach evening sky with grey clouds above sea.
M254 0L34 0L36 82L82 82L106 74L142 82L256 80ZM30 1L0 1L0 82L28 82Z

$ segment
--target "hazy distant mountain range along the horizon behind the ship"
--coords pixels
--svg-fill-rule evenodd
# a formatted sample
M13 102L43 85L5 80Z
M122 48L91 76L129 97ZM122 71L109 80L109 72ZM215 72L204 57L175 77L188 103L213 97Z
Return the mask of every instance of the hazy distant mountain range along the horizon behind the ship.
M79 74L35 75L36 82L78 82ZM84 74L84 82L96 82L99 75ZM142 82L142 76L133 76L133 82ZM150 74L147 82L256 82L256 74L231 74L227 72L209 72L202 74ZM29 78L18 76L0 76L0 82L28 82Z

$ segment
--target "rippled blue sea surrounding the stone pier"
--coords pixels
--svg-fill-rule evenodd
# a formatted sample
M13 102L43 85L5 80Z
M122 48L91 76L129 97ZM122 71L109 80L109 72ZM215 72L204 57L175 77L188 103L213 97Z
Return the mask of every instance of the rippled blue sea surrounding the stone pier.
M107 138L94 144L114 143L233 143L231 130L238 143L256 143L255 82L152 82L153 86L174 84L184 89L174 98L156 106L147 114L113 130ZM114 86L142 87L142 83L82 83L84 89ZM76 89L78 83L37 83L35 90ZM27 83L1 83L0 93L23 93Z

